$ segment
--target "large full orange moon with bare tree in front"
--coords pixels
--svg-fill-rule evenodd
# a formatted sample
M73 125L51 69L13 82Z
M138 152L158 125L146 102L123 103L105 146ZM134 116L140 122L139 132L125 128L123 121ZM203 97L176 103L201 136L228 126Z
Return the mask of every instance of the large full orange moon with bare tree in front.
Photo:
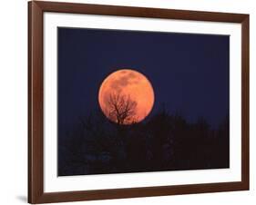
M148 78L131 69L109 74L98 92L102 112L110 121L119 124L143 121L154 101L154 90Z

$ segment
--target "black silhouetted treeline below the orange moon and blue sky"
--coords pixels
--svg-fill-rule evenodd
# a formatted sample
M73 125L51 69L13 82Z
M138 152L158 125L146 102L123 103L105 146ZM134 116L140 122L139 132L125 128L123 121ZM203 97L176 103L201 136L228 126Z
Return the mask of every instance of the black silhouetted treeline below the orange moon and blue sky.
M162 109L146 122L118 125L102 112L58 138L58 175L229 168L229 118L218 129Z

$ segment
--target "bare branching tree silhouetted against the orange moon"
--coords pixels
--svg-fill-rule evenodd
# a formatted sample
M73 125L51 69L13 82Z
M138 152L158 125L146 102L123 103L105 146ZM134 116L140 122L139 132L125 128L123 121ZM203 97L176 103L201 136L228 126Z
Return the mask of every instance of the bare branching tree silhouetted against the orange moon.
M130 124L136 122L137 102L130 99L129 95L110 93L107 101L108 118L118 124Z

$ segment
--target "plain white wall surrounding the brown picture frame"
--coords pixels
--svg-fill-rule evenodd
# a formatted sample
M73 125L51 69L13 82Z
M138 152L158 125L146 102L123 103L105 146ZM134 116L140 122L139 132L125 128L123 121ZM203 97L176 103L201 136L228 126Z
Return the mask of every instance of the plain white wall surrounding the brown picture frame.
M74 2L66 0L68 2ZM256 3L254 0L76 0L79 3L133 5L251 15L251 190L126 200L87 201L88 205L255 204L256 173ZM27 181L27 3L1 2L0 30L0 204L26 203ZM76 202L82 204L85 202Z

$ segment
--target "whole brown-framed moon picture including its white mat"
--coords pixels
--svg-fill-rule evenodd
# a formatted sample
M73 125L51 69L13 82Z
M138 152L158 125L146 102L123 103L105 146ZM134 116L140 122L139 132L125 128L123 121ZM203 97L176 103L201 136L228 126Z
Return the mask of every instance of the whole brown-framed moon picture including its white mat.
M249 15L28 11L30 203L249 190Z

